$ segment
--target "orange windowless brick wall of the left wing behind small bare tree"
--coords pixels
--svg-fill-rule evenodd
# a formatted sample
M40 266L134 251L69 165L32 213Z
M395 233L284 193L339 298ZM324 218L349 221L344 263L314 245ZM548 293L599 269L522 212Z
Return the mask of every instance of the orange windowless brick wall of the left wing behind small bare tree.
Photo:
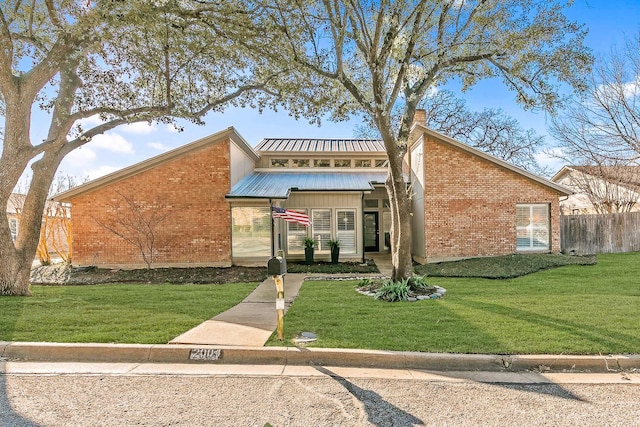
M146 217L168 212L156 227L155 267L230 265L229 176L224 140L73 198L73 264L145 265L138 249L99 224L131 213L125 195Z

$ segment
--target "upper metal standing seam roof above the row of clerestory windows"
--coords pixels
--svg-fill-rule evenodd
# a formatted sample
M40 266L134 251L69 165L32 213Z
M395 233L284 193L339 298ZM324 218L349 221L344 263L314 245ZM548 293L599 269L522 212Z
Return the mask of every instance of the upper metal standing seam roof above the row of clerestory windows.
M386 153L376 139L298 139L265 138L255 147L258 152Z

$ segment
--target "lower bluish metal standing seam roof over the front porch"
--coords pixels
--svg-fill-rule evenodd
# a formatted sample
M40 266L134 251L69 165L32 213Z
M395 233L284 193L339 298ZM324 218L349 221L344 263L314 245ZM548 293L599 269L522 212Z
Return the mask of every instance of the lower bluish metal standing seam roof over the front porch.
M380 172L253 172L242 178L227 198L286 199L297 191L371 191L384 184Z

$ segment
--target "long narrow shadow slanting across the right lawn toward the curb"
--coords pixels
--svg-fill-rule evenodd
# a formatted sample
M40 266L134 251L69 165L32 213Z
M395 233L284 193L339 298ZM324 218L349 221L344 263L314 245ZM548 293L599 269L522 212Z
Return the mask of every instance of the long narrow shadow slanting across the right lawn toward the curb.
M570 333L573 336L580 337L590 343L597 345L598 347L625 347L629 346L630 342L636 341L638 338L632 334L624 334L621 332L614 332L612 330L605 330L594 327L580 325L578 323L569 322L564 319L556 317L545 316L542 314L531 313L529 311L520 310L513 307L505 307L503 305L489 303L489 302L477 302L465 299L459 299L457 304L474 308L479 311L488 311L500 316L510 317L519 322L528 322L538 326L554 329L563 333ZM609 352L608 350L605 352ZM612 351L613 353L624 353L624 351Z

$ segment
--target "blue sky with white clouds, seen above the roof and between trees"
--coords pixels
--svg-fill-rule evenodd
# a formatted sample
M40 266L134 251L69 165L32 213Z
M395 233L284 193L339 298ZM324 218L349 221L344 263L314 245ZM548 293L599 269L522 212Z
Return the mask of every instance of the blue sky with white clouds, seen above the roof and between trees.
M586 44L596 55L606 54L612 45L621 44L625 36L635 37L640 31L640 0L576 0L567 15L587 26L589 34ZM449 88L456 90L455 86ZM481 82L460 95L472 109L502 108L517 118L523 127L546 134L544 113L524 111L515 103L513 93L504 88L500 81ZM209 114L205 121L205 126L184 123L183 132L176 132L166 125L149 126L146 123L117 128L69 154L59 171L94 179L229 126L234 126L250 145L255 146L266 137L351 138L358 124L356 120L341 123L323 120L318 127L305 120L296 121L283 110L259 114L257 110L239 108ZM37 138L36 130L33 134ZM546 139L549 144L553 142L549 137ZM544 156L540 157L540 161L554 171L561 167L557 161Z

